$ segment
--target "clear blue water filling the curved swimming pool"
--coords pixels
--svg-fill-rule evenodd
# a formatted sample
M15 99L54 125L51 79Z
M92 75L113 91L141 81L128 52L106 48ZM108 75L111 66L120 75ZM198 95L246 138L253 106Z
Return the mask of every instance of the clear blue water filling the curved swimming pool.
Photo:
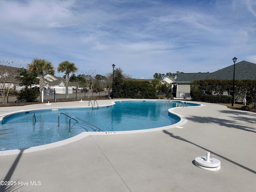
M71 120L70 132L67 116L76 116L100 131L141 130L168 126L180 121L180 118L168 112L179 102L172 101L122 101L109 107L65 108L52 110L34 110L36 122L32 125L33 112L20 112L5 117L0 125L0 150L29 148L57 142L76 136L84 131L98 131L88 124ZM197 104L188 103L188 106ZM60 126L58 126L58 115Z

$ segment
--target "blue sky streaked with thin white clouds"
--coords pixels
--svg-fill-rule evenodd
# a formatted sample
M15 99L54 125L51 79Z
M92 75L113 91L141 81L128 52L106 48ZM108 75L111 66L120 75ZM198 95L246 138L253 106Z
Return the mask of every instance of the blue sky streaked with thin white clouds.
M132 78L256 63L255 0L0 0L0 60ZM56 72L56 76L63 74Z

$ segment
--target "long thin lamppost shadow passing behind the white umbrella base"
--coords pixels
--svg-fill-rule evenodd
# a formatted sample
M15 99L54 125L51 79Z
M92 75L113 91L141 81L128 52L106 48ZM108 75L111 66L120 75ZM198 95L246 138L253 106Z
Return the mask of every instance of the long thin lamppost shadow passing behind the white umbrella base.
M199 148L201 148L201 149L203 149L203 150L205 150L205 151L211 151L211 150L208 150L208 149L206 149L206 148L204 148L204 147L202 147L202 146L199 146L199 145L197 145L197 144L195 144L195 143L193 143L193 142L190 142L190 141L188 141L188 140L186 140L186 139L184 139L184 138L182 138L182 137L180 137L180 136L175 136L174 134L172 134L172 133L170 133L170 132L168 132L168 131L166 131L166 130L163 130L163 132L164 132L165 134L168 134L170 137L172 137L172 138L174 138L174 139L178 139L178 140L181 140L181 141L190 143L190 144L192 144L192 145L194 145L194 146L197 146L197 147L199 147ZM248 171L250 171L250 172L256 174L256 171L254 171L254 170L252 170L252 169L250 169L250 168L248 168L248 167L246 167L246 166L243 166L243 165L241 165L241 164L239 164L239 163L237 163L237 162L234 162L234 161L232 161L232 160L230 160L230 159L228 159L228 158L226 158L226 157L224 157L224 156L222 156L222 155L220 155L220 154L217 154L217 153L214 152L214 155L216 155L216 156L218 156L218 157L220 157L220 158L222 158L222 159L224 159L224 160L227 160L227 161L231 162L232 164L235 164L235 165L237 165L237 166L240 166L241 168L244 168L245 170L248 170ZM193 162L192 162L192 163L193 163ZM194 163L193 163L193 164L194 164Z

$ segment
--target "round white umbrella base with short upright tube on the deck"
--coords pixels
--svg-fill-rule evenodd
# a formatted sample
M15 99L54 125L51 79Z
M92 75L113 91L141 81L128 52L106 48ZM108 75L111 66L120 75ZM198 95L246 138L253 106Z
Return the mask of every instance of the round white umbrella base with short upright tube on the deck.
M206 157L195 158L195 164L199 168L207 171L220 170L220 160L210 157L210 152L206 152Z

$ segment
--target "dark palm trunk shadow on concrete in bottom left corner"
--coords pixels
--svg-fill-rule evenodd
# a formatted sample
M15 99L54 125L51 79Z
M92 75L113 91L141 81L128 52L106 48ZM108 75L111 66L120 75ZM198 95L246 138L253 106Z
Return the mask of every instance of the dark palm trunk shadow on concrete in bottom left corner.
M6 185L0 185L0 192L14 192L14 191L17 191L18 189L20 189L22 186L18 185L18 180L11 180L12 178L12 174L14 173L17 165L18 165L18 162L20 161L20 158L24 152L24 150L26 150L28 148L24 148L24 149L20 149L20 153L18 154L17 158L15 159L15 161L13 162L11 168L9 169L8 173L6 174L6 176L1 179L1 181L16 181L16 184L14 183L10 183L9 184L6 184Z

